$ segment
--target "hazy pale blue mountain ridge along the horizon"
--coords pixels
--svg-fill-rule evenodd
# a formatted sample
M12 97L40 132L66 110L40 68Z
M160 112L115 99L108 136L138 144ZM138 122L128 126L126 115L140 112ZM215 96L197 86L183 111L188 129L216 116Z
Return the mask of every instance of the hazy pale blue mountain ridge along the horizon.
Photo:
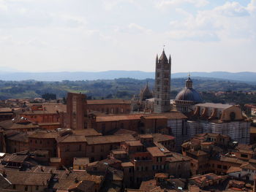
M233 80L241 82L255 82L256 72L191 72L192 77L209 79ZM187 77L187 73L173 73L172 78ZM106 71L106 72L3 72L0 71L0 80L113 80L118 78L133 78L138 80L154 79L154 72L141 71Z

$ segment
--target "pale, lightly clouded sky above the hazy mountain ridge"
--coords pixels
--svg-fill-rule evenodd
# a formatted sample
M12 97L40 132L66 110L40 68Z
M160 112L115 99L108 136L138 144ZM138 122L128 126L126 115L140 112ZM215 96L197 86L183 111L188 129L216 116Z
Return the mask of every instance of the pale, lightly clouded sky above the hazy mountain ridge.
M256 0L0 0L0 69L256 72Z

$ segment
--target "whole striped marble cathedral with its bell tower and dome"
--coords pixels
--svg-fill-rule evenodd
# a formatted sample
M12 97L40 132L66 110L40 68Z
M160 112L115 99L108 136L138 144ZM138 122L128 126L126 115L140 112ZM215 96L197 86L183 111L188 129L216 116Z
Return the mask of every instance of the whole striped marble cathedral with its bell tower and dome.
M172 110L186 115L182 123L168 123L170 134L176 137L176 147L180 147L184 140L195 134L214 133L226 134L233 141L249 143L250 123L244 116L241 107L229 104L204 103L203 99L193 88L189 75L184 88L177 94L170 104L170 76L171 58L167 58L165 50L156 58L154 91L146 87L138 96L132 99L132 110L136 112L165 113ZM153 98L154 97L154 98ZM170 118L171 119L171 118ZM170 120L169 120L170 121Z

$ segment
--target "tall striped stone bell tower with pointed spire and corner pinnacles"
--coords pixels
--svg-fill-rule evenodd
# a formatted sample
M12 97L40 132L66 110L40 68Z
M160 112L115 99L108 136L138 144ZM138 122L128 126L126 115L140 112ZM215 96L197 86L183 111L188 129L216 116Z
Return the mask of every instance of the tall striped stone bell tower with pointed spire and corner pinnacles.
M170 112L170 69L171 58L169 61L162 50L160 58L156 59L156 74L154 84L154 112Z

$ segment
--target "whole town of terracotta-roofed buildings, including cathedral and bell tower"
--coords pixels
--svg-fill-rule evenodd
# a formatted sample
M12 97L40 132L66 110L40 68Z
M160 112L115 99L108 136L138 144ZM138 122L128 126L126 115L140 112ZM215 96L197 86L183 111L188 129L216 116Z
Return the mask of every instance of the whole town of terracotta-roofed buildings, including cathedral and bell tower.
M256 191L256 104L205 102L190 75L170 100L171 66L131 99L1 100L0 191Z

